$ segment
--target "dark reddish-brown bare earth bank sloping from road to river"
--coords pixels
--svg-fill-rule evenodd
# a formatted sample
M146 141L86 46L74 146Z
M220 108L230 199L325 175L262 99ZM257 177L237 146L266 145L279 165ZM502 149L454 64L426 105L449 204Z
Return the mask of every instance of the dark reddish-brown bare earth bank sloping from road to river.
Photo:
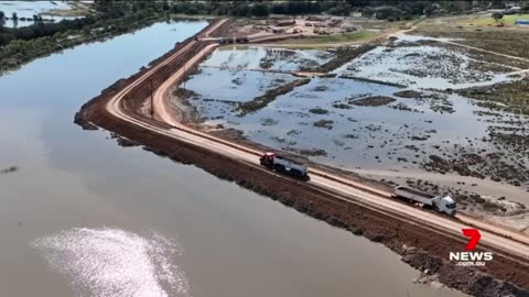
M171 53L190 41L191 38L179 44ZM174 67L187 61L190 55L196 53L199 48L201 46L192 48L188 54L155 72L152 75L155 86L161 84L164 77L171 75ZM161 59L158 59L154 64L160 62ZM101 95L91 99L76 114L75 122L90 129L95 128L93 124L101 127L144 145L145 150L160 156L183 164L193 164L222 179L235 182L241 187L268 196L300 212L349 230L354 234L364 235L374 242L385 244L402 255L406 263L428 275L433 275L433 278L438 278L449 287L476 296L506 296L508 294L522 296L525 293L529 294L522 289L529 289L529 266L518 262L517 258L508 258L496 254L494 261L487 263L486 267L477 270L455 267L446 258L450 252L463 250L466 244L464 239L454 239L442 233L432 235L431 231L421 226L415 226L407 218L388 216L363 205L336 199L333 195L315 186L277 177L260 166L241 164L222 154L153 133L144 128L131 125L109 114L105 108L108 100L144 72L145 69L142 69L128 79L117 81L104 90ZM149 90L150 84L145 82L130 91L123 102L127 111L134 112L136 109L140 108L147 98L145 91ZM169 128L137 113L134 117L142 118L143 121L153 125ZM499 253L500 251L496 252Z

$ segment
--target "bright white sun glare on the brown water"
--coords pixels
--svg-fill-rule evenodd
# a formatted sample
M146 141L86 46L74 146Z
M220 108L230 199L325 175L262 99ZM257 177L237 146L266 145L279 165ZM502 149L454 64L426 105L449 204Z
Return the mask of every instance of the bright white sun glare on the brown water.
M179 252L176 244L156 233L140 237L119 229L76 228L33 245L55 270L73 278L79 296L188 296L184 274L171 262Z

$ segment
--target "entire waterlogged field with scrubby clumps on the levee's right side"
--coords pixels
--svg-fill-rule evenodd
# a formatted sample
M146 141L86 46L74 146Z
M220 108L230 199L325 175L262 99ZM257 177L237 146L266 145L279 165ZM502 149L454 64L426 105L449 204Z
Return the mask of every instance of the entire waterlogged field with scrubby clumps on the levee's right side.
M240 130L251 141L319 163L364 173L387 172L378 175L387 179L395 179L392 172L456 174L466 177L445 184L466 182L464 190L469 193L494 184L493 196L529 204L525 191L528 148L505 138L528 135L529 118L492 110L490 105L450 91L511 80L510 74L519 68L484 63L465 51L440 46L440 41L432 43L431 38L404 36L345 64L333 72L336 77L313 78L249 113L240 112L241 102L255 100L264 90L252 91L234 81L258 80L276 87L296 78L289 79L288 73L249 72L248 65L258 67L268 61L271 68L298 69L306 62L299 54L290 59L280 54L263 58L258 47L228 47L204 62L199 73L186 81L193 92L188 101L205 124ZM332 53L306 55L327 57ZM237 65L231 56L239 57ZM209 67L224 64L230 68ZM212 77L231 82L205 84Z

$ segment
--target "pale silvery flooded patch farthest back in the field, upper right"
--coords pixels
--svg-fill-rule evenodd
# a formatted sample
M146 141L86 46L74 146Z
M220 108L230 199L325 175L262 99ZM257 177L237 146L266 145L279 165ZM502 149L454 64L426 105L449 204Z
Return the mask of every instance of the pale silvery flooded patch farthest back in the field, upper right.
M447 38L413 35L399 40L344 65L336 74L376 79L420 89L462 89L509 81L507 65L479 61L462 48L443 44Z

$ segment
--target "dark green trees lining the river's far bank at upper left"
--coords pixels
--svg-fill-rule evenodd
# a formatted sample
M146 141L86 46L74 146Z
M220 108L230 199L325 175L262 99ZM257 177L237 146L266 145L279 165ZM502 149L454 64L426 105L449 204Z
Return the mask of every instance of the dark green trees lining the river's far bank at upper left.
M114 7L111 3L108 6ZM98 10L85 18L63 20L57 23L46 23L36 19L34 24L29 26L0 26L0 74L15 69L36 57L86 42L123 34L168 20L170 16L169 11L151 7L133 11L131 7L125 6L110 10L106 9L106 6L96 6L96 8Z

